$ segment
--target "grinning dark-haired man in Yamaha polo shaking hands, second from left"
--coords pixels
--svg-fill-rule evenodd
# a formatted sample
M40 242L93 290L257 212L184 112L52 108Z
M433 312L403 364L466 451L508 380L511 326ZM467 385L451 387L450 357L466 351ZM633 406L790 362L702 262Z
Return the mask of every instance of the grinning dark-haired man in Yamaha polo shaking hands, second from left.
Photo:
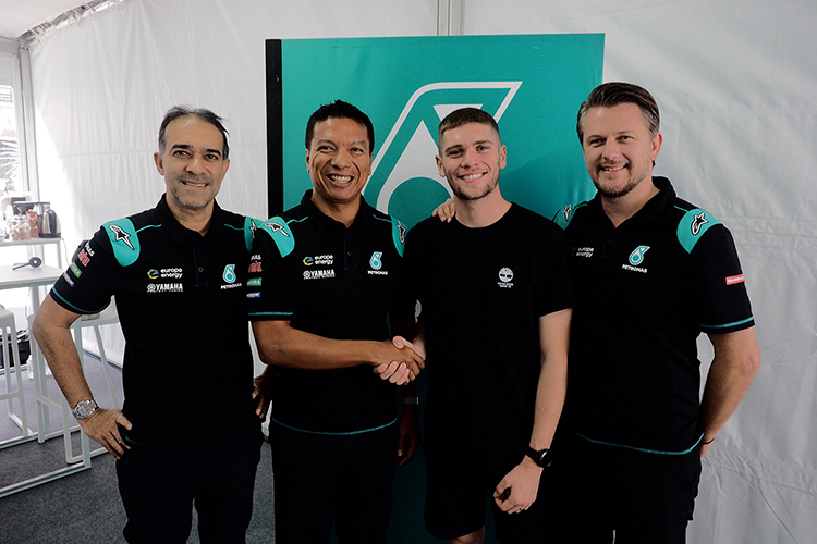
M405 228L361 196L374 144L371 121L354 106L313 113L313 190L266 221L253 245L249 317L264 375L279 370L270 424L279 544L324 544L333 520L341 543L385 543L395 450L404 461L417 444L412 408L394 424L389 383L423 366L389 339L388 318L403 334L414 321Z

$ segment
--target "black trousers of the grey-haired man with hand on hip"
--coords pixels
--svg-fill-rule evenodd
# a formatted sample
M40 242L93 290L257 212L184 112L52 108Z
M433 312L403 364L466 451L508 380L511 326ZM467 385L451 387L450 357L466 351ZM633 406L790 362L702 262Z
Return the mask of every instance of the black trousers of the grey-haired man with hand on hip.
M125 540L185 543L195 505L203 544L243 544L263 441L259 429L185 449L129 444L117 461Z

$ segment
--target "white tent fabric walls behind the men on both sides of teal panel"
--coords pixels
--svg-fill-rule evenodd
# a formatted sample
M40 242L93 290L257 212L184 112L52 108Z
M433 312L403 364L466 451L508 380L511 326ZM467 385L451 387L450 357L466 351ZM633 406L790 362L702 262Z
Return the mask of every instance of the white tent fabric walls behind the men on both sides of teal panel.
M429 36L436 17L434 0L126 0L54 29L31 50L40 197L71 247L153 206L158 121L185 102L227 118L219 201L266 215L264 40ZM464 34L603 33L605 81L661 107L657 173L735 236L764 362L705 459L691 543L817 542L815 23L814 1L464 2ZM477 72L501 62L475 51Z

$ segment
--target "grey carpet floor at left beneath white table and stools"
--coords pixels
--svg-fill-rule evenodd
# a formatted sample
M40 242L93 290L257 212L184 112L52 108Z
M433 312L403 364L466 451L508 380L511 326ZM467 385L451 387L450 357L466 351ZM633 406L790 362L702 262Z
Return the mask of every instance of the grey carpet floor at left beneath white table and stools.
M122 399L121 372L110 367L114 391ZM110 406L110 395L101 361L86 357L86 375L96 398ZM12 388L16 376L11 373ZM33 380L23 371L28 426L36 432L37 411ZM59 388L48 378L49 397L59 399ZM0 393L5 393L5 376L0 374ZM14 403L14 411L20 407ZM73 421L72 421L73 422ZM62 429L60 411L50 411L49 431ZM20 436L20 429L8 417L8 403L0 403L0 441ZM74 452L80 453L80 433L72 433ZM98 445L92 441L92 448ZM272 542L272 466L269 445L261 449L255 489L253 520L248 543ZM36 440L0 449L0 487L66 467L62 435L44 444ZM107 453L92 460L92 468L0 498L0 544L94 544L124 542L125 512L117 490L115 461ZM198 543L194 527L188 540Z

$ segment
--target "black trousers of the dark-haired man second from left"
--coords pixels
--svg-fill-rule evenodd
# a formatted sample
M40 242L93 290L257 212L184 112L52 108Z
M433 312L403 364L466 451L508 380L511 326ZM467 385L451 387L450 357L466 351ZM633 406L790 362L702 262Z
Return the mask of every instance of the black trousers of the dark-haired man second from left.
M349 435L270 423L277 544L386 544L397 425Z

